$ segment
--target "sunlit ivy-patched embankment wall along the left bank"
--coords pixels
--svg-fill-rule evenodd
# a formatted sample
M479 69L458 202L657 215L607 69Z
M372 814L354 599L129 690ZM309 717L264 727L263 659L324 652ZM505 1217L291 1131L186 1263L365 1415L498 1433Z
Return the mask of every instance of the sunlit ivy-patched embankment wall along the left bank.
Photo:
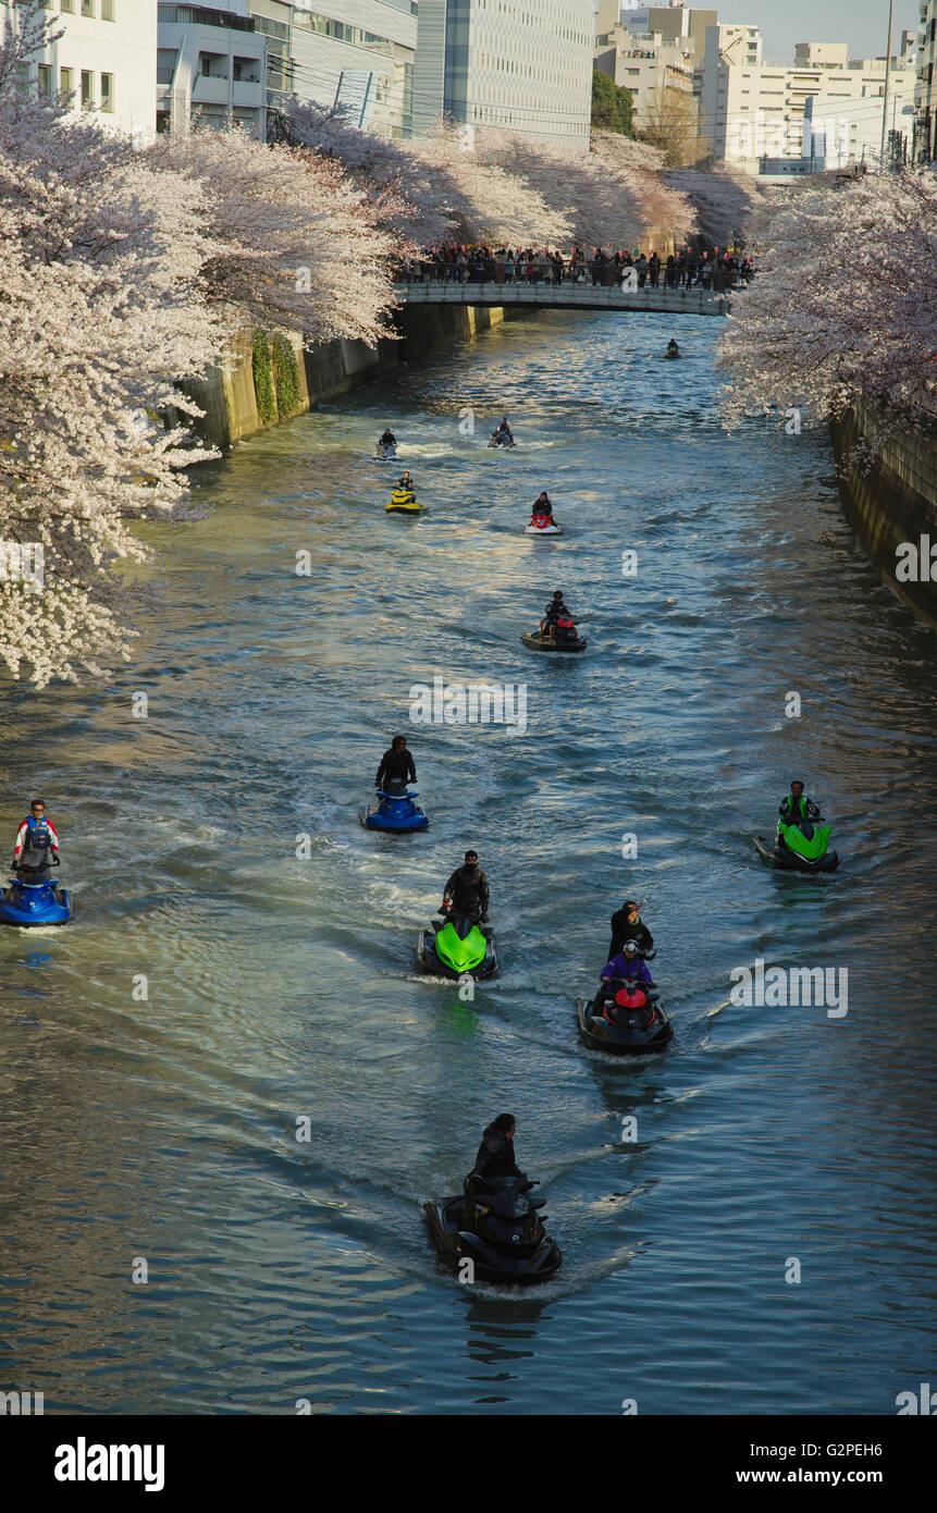
M377 346L338 340L312 351L303 350L297 333L265 337L241 331L230 343L230 366L186 380L183 389L204 410L198 433L227 451L245 436L292 421L401 363L477 336L512 316L513 312L506 315L500 307L404 306L397 315L400 340L380 340Z

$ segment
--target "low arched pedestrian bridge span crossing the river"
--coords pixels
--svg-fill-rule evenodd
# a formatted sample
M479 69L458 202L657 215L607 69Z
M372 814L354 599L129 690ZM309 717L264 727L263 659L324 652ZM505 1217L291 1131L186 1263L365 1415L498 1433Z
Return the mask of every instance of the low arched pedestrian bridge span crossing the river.
M430 278L398 283L403 304L498 304L536 310L646 310L658 315L728 315L734 290L714 292L695 284L668 289L621 287L586 283L498 283L474 280L445 283Z

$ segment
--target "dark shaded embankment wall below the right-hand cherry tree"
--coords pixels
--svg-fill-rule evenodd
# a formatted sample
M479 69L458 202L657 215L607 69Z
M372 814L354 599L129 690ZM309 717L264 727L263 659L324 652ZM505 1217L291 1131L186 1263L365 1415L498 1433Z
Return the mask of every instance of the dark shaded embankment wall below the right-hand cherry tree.
M883 578L937 626L937 581L901 583L895 576L904 542L911 542L919 557L922 537L937 543L937 422L902 431L889 421L883 427L881 415L858 405L831 427L837 463L842 466L857 442L879 428L887 440L870 471L852 464L845 478L840 475L843 511Z

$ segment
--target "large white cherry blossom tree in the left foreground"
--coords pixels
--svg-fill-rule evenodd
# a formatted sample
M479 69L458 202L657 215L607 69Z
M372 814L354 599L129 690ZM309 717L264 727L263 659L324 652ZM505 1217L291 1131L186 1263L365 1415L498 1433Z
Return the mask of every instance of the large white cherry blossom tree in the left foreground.
M192 409L176 377L223 350L198 212L194 185L94 126L0 100L0 658L38 685L127 655L129 522L180 508L209 455L154 422Z

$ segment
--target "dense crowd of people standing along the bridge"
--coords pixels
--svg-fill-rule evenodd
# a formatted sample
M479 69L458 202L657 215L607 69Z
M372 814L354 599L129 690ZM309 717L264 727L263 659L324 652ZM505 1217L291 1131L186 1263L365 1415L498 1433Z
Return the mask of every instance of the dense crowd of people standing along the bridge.
M651 250L649 256L640 248L607 251L595 247L589 253L583 247L574 247L563 256L557 248L437 242L404 262L398 277L404 283L592 283L609 287L636 283L639 289L698 286L719 294L748 284L754 271L751 256L727 247L684 247L678 253Z

